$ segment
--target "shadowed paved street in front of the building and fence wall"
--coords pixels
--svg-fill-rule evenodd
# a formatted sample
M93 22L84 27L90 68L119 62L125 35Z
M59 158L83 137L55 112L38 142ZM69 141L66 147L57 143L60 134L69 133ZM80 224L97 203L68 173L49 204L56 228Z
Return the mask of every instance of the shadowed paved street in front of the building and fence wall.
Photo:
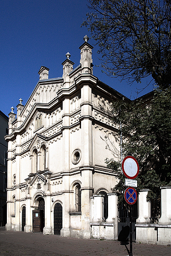
M126 247L117 241L5 231L4 228L0 228L0 256L127 255ZM133 256L171 256L171 246L133 243Z

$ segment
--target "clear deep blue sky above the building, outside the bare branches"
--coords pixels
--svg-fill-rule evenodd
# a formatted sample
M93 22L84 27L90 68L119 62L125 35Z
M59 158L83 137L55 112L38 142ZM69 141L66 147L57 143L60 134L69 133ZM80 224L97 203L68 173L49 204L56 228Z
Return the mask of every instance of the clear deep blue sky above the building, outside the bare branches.
M0 110L8 115L22 97L25 105L36 86L41 65L49 78L62 76L65 54L80 64L79 47L89 32L80 27L87 9L86 0L1 0L0 1ZM88 41L94 45L93 40ZM92 55L93 74L127 97L137 97L136 87L101 72L95 46ZM143 81L146 84L146 81ZM143 87L144 84L139 85ZM139 96L149 92L147 88Z

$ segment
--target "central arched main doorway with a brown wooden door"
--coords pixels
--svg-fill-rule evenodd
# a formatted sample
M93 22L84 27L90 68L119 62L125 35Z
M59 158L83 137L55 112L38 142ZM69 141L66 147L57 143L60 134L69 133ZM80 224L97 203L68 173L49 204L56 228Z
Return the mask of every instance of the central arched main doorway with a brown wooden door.
M38 209L32 212L32 231L43 232L45 226L45 201L42 197L39 197L37 200L39 201Z

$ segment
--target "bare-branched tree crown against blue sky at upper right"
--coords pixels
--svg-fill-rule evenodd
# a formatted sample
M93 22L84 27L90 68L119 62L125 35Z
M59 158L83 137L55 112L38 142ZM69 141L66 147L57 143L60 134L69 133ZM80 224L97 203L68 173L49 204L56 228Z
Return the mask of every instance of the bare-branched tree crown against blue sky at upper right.
M171 1L88 0L83 25L96 40L110 76L141 82L149 75L171 84Z

